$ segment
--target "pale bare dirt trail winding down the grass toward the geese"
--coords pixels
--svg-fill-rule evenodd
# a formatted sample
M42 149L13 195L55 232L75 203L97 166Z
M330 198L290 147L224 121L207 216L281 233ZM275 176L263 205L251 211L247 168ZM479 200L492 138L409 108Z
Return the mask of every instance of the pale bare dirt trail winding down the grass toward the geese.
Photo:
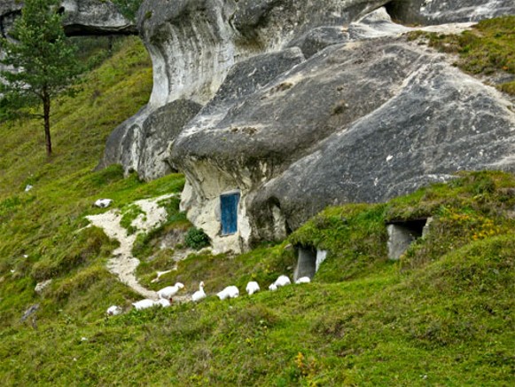
M167 211L158 205L158 201L168 199L174 194L163 195L158 198L136 201L136 204L142 209L145 215L140 214L133 222L132 225L137 227L138 232L146 232L155 228L160 223L164 222L167 218ZM90 215L86 217L90 220L92 225L96 225L104 230L109 238L120 241L120 247L113 251L113 258L107 263L109 272L117 275L118 278L132 288L140 295L158 299L158 295L153 290L144 288L136 278L136 268L139 265L139 259L132 257L132 246L136 241L137 233L132 235L127 234L127 230L120 225L121 212L119 209L111 209L103 214Z

